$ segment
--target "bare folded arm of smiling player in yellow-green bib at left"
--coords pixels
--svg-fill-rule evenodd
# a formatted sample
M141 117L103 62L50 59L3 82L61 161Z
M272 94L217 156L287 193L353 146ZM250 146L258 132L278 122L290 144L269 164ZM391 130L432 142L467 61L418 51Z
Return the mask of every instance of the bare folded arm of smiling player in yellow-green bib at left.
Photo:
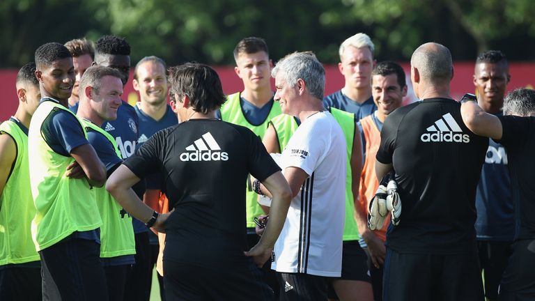
M98 158L95 149L90 144L83 144L72 148L70 155L84 170L89 185L102 187L106 183L106 167Z

